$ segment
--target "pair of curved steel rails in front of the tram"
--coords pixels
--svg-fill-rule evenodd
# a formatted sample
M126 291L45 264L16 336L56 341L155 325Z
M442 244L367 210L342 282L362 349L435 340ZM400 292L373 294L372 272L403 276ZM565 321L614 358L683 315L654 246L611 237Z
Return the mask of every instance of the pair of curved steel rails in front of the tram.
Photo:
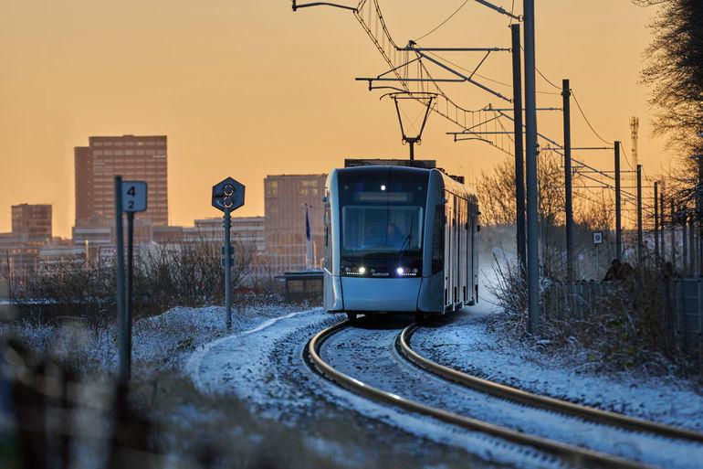
M403 410L423 414L467 430L487 433L509 442L530 446L540 452L554 455L565 463L572 464L576 467L620 469L652 467L635 460L626 459L619 455L600 453L582 446L559 442L530 433L518 432L508 427L496 425L488 421L481 421L449 410L426 405L416 400L407 399L396 393L375 388L358 378L353 378L345 373L342 373L340 370L332 367L320 356L320 348L331 336L334 336L349 327L349 322L342 322L337 325L332 325L331 327L328 327L313 336L306 347L306 358L310 366L317 370L323 377L330 379L344 389L348 389L367 399L376 400L384 404L393 405L394 407ZM701 435L696 432L690 432L676 427L669 427L666 425L657 424L655 422L632 419L619 414L614 414L614 412L605 412L603 410L595 410L584 406L578 406L576 404L572 404L571 402L544 398L542 396L526 393L519 389L512 389L498 383L492 383L485 379L471 377L451 368L443 367L430 360L427 360L425 357L420 356L411 348L409 345L410 337L412 336L415 327L416 326L414 325L410 325L406 327L399 336L397 336L396 347L400 351L401 355L414 363L414 365L441 378L449 379L459 385L498 396L503 399L513 400L532 407L538 407L540 409L560 412L569 416L577 416L584 420L595 421L597 423L608 425L616 425L626 430L635 432L654 433L667 438L685 439L693 442L701 441Z

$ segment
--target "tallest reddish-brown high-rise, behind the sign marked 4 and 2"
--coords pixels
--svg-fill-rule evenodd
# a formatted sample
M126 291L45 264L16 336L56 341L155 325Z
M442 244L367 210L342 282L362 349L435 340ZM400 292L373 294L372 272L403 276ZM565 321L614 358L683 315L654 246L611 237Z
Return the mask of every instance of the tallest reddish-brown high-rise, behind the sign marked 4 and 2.
M165 135L89 137L89 146L77 146L76 226L104 224L114 218L114 176L146 181L147 210L142 219L168 225L168 165Z

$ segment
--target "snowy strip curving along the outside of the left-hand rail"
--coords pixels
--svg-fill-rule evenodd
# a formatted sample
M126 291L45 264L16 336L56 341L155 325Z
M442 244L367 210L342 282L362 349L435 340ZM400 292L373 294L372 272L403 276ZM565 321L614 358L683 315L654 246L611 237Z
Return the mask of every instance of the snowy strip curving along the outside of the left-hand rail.
M399 454L419 454L428 467L563 467L530 448L377 404L321 378L305 363L303 349L310 336L339 321L321 310L288 314L200 347L186 372L199 389L235 394L257 415L306 432L331 416L359 421L357 426ZM357 451L367 453L366 448ZM352 466L363 465L359 453L338 455Z

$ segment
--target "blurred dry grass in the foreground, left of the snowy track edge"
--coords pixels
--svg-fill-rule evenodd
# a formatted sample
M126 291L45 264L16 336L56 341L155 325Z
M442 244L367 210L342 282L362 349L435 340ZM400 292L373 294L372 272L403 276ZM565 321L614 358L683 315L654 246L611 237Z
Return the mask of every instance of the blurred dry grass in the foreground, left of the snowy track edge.
M194 467L242 469L334 469L341 467L423 467L369 439L343 418L290 428L257 418L229 395L204 394L174 373L136 383L132 398L158 422L158 445Z

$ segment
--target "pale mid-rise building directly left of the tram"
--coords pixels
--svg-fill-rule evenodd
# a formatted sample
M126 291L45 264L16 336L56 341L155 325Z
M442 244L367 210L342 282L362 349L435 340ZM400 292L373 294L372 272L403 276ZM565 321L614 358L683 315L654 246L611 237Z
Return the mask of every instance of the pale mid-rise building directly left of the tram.
M310 267L324 256L324 206L327 175L267 176L264 180L266 248L276 272L306 265L306 206L310 219Z

